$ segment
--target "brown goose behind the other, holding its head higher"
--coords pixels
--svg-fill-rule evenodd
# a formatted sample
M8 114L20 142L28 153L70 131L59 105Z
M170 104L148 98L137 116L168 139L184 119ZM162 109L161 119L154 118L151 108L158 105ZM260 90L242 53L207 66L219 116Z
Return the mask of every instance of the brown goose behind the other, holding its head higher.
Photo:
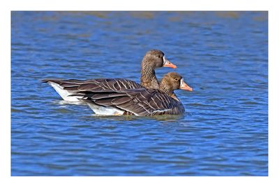
M155 69L158 67L176 68L176 65L170 63L162 51L153 49L147 51L142 59L140 84L128 79L44 79L43 82L49 83L64 100L79 101L79 98L92 91L109 92L137 88L158 89L159 83L155 74Z

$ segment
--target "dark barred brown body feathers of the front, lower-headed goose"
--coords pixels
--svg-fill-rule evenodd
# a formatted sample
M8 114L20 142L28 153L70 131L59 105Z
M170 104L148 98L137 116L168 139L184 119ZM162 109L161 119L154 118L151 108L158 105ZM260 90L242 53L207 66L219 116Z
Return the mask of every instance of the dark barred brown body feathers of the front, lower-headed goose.
M96 92L96 94L84 95L84 99L87 103L121 109L124 114L149 116L174 115L184 112L180 101L176 101L165 92L156 89L117 90L110 92L110 94Z

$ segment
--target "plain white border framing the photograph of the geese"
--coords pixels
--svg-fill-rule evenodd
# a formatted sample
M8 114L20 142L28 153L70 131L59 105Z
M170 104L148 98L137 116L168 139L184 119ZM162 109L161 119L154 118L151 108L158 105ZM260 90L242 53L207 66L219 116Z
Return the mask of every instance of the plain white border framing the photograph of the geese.
M278 4L278 3L277 3ZM1 186L276 186L278 185L279 24L276 1L1 1ZM11 10L268 10L269 11L269 177L10 177L10 11ZM278 85L278 83L277 83ZM246 184L247 183L247 184ZM121 185L120 185L121 184Z

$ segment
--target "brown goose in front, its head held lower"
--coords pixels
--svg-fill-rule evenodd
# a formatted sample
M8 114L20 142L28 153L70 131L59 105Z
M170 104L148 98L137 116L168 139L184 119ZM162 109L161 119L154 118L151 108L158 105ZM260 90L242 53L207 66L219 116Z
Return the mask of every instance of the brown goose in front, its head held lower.
M159 90L138 88L112 92L89 92L85 101L98 115L178 115L184 113L174 90L193 91L176 72L165 74Z

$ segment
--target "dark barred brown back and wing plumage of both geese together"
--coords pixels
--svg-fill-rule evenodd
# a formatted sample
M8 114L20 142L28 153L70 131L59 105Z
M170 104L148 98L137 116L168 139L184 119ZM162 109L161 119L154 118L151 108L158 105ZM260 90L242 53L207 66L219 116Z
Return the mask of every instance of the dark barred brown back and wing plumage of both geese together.
M127 115L164 115L184 112L180 101L164 92L143 88L135 81L126 79L45 79L54 82L64 90L73 92L72 96L84 97L88 103L100 106L112 106L125 111Z

